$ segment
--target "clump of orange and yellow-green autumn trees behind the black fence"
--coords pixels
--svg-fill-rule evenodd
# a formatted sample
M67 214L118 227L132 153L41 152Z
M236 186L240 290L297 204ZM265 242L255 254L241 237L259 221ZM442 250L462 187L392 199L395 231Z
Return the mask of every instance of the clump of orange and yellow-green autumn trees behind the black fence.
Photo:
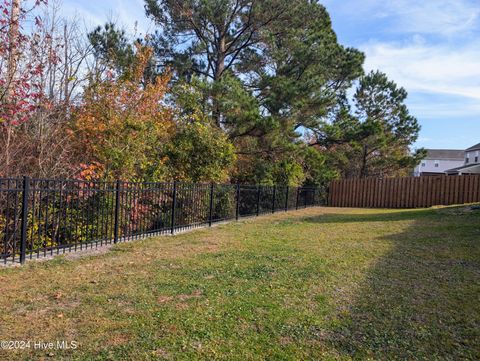
M227 181L235 159L228 138L200 109L172 101L170 74L145 82L152 49L137 44L131 69L92 79L70 130L84 179ZM184 90L184 98L192 91ZM191 94L195 96L195 93Z

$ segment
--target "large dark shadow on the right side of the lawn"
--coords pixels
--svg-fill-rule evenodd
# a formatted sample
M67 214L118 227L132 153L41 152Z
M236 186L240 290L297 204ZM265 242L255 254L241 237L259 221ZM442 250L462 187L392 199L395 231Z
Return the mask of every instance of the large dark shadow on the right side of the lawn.
M309 222L413 220L379 237L393 248L368 271L327 342L354 359L480 358L480 211L469 207L331 214Z

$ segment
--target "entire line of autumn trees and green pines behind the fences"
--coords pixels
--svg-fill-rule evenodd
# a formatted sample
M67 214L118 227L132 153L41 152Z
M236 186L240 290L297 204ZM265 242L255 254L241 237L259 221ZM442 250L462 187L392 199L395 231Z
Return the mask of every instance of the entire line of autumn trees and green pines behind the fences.
M407 93L308 0L145 0L155 30L0 1L0 176L320 185L423 156Z

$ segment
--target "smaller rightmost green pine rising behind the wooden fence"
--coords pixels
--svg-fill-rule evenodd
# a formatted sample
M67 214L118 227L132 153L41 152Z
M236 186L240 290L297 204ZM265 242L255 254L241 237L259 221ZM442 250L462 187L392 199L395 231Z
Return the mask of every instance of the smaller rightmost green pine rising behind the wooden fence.
M411 153L420 125L405 104L407 92L379 71L360 79L353 111L345 107L324 128L319 143L344 177L407 174L423 156Z

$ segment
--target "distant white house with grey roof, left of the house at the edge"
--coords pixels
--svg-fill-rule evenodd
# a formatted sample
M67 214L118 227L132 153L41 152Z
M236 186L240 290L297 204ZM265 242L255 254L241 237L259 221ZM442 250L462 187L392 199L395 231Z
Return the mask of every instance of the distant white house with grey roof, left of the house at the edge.
M427 149L427 156L413 170L415 177L444 175L445 171L464 165L464 150Z

